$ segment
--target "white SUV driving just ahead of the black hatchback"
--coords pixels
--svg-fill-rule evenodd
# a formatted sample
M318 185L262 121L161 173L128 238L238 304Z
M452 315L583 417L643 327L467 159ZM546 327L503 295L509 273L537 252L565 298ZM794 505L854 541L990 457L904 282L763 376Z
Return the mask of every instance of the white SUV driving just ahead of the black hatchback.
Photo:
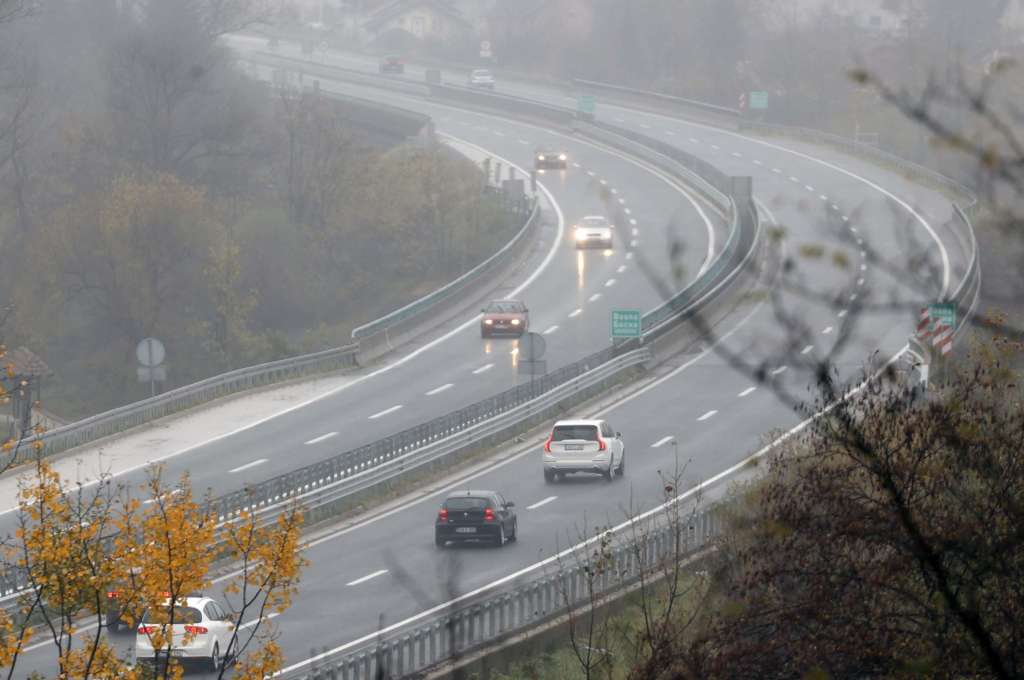
M604 420L560 420L544 442L544 480L570 472L597 472L611 481L626 474L623 435Z

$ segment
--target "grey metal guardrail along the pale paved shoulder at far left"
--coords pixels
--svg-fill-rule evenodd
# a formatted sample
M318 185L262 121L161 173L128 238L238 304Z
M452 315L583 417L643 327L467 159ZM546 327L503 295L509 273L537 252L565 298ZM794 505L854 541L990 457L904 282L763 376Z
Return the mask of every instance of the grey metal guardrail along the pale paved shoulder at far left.
M250 366L200 380L141 401L112 409L28 439L19 447L18 452L12 455L13 463L24 463L34 459L37 454L33 451L33 444L36 441L41 441L45 455L51 456L227 394L314 373L351 368L356 365L357 349L357 345L345 345L311 354ZM11 462L10 458L8 457L5 462Z

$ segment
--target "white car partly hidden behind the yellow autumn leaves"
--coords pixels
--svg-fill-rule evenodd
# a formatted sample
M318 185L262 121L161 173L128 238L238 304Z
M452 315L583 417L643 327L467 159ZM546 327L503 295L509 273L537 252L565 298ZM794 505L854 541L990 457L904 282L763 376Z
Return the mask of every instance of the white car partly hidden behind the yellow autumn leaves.
M142 614L135 632L135 660L154 663L154 636L170 621L170 600L163 610L152 609ZM210 597L178 598L174 606L174 625L170 642L171 656L184 662L203 662L207 668L220 670L221 664L230 663L233 655L234 620L220 604ZM163 625L162 625L163 624ZM160 660L166 661L168 644L160 647Z

